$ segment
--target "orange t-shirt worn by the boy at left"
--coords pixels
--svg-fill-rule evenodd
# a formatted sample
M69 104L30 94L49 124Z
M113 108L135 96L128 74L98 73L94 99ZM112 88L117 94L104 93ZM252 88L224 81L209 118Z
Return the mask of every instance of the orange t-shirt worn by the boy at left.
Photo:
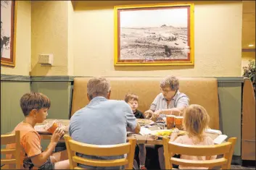
M20 122L12 133L15 133L17 130L20 130L20 145L22 146L20 150L21 168L28 169L27 161L24 160L42 153L41 137L36 132L36 129L28 123ZM15 148L15 144L7 145L7 148Z

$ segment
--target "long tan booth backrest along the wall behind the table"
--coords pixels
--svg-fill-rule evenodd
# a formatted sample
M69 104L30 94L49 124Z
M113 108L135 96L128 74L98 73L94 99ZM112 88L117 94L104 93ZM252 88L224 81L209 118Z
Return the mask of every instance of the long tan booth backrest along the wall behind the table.
M91 77L76 77L73 86L71 116L88 104L87 82ZM126 93L139 95L139 110L149 109L160 93L162 77L107 77L110 80L110 99L124 100ZM189 96L189 104L205 107L210 115L210 128L219 129L218 82L215 78L178 77L179 90Z

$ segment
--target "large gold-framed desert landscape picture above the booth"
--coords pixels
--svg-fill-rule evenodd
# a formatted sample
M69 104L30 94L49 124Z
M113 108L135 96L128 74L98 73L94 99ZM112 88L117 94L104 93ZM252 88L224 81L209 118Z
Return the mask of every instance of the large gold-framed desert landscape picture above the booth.
M115 66L194 65L194 5L116 6Z

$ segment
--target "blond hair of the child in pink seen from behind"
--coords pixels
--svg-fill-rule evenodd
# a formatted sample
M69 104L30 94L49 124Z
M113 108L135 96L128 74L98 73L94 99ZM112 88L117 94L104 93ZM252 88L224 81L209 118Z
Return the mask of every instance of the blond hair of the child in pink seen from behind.
M203 106L191 104L186 108L183 116L183 129L188 132L189 137L196 136L202 141L209 121L210 117Z

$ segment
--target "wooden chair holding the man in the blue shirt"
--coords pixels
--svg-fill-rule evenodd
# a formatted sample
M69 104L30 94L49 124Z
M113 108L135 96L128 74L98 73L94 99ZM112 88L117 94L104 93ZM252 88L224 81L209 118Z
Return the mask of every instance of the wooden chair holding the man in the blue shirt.
M83 169L78 166L78 163L87 166L125 166L125 169L133 169L133 157L136 147L136 139L131 139L128 143L117 145L91 145L80 143L69 135L65 135L65 143L67 147L67 154L70 160L70 169ZM89 158L82 158L75 153L81 153L88 156L120 156L127 154L126 158L115 160L95 160Z

